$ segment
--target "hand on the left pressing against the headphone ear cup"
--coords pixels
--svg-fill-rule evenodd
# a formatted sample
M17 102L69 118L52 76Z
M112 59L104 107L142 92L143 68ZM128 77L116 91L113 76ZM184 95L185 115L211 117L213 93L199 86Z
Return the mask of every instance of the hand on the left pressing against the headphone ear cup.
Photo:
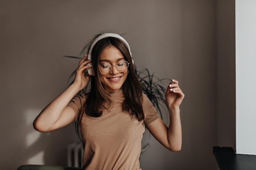
M92 60L86 60L88 55L85 55L82 60L79 62L79 66L76 69L76 76L73 84L79 87L79 90L83 90L89 82L91 75L87 74L85 76L85 69L91 68L92 66L87 66L88 63L92 62ZM86 61L85 61L86 60Z

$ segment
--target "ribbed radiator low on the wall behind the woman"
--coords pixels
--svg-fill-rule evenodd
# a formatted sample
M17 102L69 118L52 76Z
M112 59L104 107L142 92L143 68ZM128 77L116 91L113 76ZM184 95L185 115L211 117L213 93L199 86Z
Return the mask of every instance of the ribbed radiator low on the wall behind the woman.
M83 145L75 142L67 146L67 166L82 168Z

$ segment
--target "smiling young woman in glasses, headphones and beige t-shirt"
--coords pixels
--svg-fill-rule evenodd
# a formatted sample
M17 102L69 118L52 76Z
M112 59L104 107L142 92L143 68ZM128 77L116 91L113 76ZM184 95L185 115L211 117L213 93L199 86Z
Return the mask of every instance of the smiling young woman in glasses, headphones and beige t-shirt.
M139 156L145 126L167 149L182 145L180 104L184 98L177 80L166 89L170 125L166 127L142 93L130 47L120 35L97 35L76 76L61 95L36 117L34 128L49 132L79 121L84 170L140 170ZM88 69L92 75L85 75ZM88 94L79 91L88 85Z

